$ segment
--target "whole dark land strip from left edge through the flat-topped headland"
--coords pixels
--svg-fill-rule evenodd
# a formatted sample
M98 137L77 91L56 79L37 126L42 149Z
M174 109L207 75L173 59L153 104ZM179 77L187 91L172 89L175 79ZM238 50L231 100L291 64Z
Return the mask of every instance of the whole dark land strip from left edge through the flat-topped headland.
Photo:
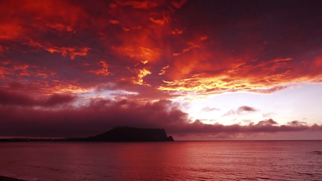
M31 141L109 141L109 142L149 142L174 141L167 136L164 129L116 127L103 134L88 138L7 138L0 142L31 142Z

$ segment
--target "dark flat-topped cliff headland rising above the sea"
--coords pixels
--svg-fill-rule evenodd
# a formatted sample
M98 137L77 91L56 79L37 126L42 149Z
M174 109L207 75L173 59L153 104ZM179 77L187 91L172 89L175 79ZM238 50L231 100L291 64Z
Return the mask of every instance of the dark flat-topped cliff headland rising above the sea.
M167 137L164 129L144 129L131 127L117 127L103 134L86 138L87 141L174 141Z

